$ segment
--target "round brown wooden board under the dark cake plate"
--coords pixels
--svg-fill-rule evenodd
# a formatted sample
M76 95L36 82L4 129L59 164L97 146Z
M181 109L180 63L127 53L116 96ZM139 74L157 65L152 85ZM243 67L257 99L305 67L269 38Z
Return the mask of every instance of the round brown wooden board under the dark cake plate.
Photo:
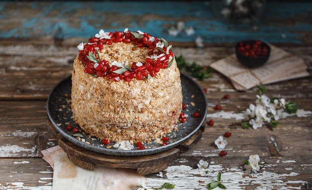
M160 172L168 167L169 162L177 158L181 152L191 149L201 138L204 126L181 145L164 152L144 156L114 156L93 152L73 144L65 139L47 119L48 129L58 145L67 153L68 159L86 170L94 170L95 166L112 168L131 168L141 175Z

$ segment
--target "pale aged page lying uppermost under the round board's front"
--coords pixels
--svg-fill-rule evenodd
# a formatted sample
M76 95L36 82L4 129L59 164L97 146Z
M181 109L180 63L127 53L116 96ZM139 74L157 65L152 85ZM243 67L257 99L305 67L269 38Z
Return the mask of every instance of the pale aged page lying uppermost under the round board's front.
M146 178L133 169L96 166L94 171L73 164L66 154L55 155L52 190L131 190Z

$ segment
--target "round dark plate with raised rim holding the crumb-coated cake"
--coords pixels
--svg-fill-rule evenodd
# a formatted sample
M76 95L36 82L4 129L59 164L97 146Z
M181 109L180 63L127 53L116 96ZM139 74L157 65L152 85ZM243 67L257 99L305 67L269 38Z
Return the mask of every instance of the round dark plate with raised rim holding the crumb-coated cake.
M79 133L79 135L83 136L80 137L80 140L73 136L74 134L77 135L77 133L66 129L68 123L71 124L72 128L75 126L79 128L72 118L70 97L71 76L57 84L50 93L47 101L47 114L53 126L64 138L87 150L115 156L156 154L174 148L189 139L198 129L200 129L205 120L207 114L207 100L202 89L196 82L182 73L181 82L183 102L187 105L186 109L183 110L183 112L188 115L187 122L179 124L178 131L173 131L167 135L170 140L165 146L152 141L151 143L144 143L146 148L143 150L137 150L138 147L136 145L134 145L132 150L117 150L112 147L115 143L104 145L100 139L90 137L90 135L85 134L83 131ZM194 106L191 105L191 102L194 103ZM200 117L192 117L192 114L195 111L200 113ZM107 146L109 148L107 148Z

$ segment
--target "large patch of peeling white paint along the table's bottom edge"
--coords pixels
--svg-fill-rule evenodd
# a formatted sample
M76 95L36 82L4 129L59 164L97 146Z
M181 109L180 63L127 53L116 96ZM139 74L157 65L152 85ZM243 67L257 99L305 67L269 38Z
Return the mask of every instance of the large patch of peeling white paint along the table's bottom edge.
M298 176L298 173L291 172L277 174L263 171L257 174L248 175L242 167L223 168L222 165L213 165L211 162L208 169L192 169L189 166L169 166L165 178L147 179L147 187L159 187L163 183L175 184L175 190L207 190L206 185L216 180L219 171L222 172L221 181L229 190L248 189L250 184L256 184L255 190L283 189L297 190L302 189L305 181L284 181L286 177ZM264 167L271 167L265 165ZM207 173L206 173L207 171ZM162 176L162 175L157 175ZM291 184L291 185L290 185Z

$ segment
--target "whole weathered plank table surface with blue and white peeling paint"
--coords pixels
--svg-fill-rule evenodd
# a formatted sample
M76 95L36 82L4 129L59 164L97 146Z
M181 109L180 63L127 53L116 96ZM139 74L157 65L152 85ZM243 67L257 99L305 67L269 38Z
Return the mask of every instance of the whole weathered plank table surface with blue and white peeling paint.
M176 8L172 8L176 6ZM235 42L260 38L303 58L312 74L311 2L268 2L264 17L254 23L233 23L219 16L215 2L0 2L0 190L51 190L53 170L40 151L53 147L47 130L46 101L52 88L72 72L77 45L99 29L142 30L164 37L173 52L192 63L209 64L234 52ZM196 33L170 36L178 21ZM196 36L203 48L196 48ZM195 79L196 80L196 79ZM202 138L192 149L169 163L164 171L148 175L149 187L164 182L175 189L205 189L218 171L228 189L312 188L312 77L266 85L269 97L295 101L306 117L289 116L276 128L243 129L235 118L212 117L215 104L242 113L256 99L256 88L236 91L218 72L198 84L207 89L208 115ZM224 100L224 95L231 95ZM310 113L309 113L310 111ZM227 155L220 157L214 140L224 132ZM257 175L248 175L244 160L261 158ZM199 160L209 163L199 172Z

